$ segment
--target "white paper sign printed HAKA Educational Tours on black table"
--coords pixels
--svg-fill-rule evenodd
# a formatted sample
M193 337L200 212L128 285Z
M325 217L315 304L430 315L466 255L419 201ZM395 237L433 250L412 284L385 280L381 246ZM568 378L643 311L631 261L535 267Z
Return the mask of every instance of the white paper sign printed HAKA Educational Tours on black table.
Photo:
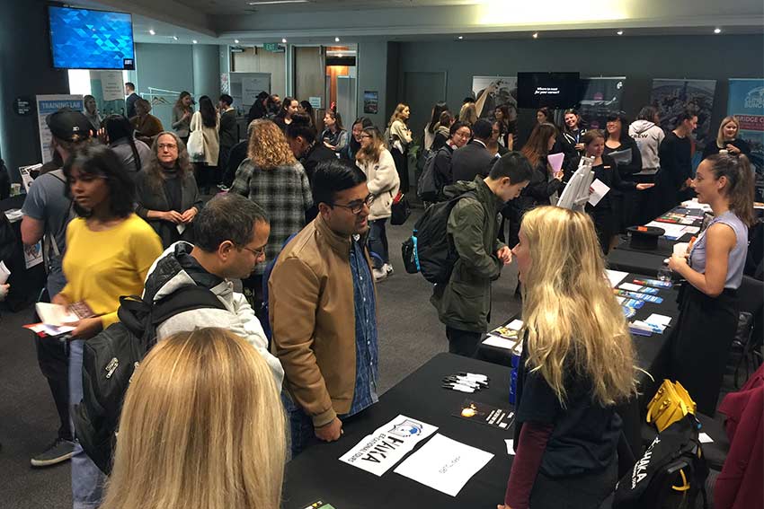
M437 426L399 415L386 425L379 426L374 433L366 435L340 461L381 476L411 452L414 445L436 431Z

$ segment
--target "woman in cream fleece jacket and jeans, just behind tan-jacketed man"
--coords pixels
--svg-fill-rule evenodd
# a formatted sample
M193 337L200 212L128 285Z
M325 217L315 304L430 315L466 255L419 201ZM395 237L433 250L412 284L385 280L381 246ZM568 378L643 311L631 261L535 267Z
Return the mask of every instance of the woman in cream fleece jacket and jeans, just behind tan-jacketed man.
M374 196L369 206L369 251L373 255L374 279L381 281L393 274L385 224L392 215L393 198L398 194L401 180L395 171L393 155L385 148L377 127L363 129L356 165L366 174L369 193Z

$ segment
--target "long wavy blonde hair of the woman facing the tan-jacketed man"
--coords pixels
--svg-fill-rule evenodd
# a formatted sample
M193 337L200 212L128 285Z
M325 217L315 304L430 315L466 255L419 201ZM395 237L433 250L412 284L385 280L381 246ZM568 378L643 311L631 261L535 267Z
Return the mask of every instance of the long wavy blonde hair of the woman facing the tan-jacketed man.
M526 365L563 405L574 373L591 381L600 405L627 399L635 393L634 346L589 215L540 206L523 216L520 231L531 259L521 287Z

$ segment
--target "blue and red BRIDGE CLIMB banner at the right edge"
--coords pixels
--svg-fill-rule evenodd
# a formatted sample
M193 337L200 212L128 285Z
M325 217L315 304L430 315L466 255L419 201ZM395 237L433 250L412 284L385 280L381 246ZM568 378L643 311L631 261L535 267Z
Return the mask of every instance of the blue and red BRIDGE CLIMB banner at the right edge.
M764 78L731 78L727 115L733 115L740 122L738 137L751 145L756 181L764 185Z

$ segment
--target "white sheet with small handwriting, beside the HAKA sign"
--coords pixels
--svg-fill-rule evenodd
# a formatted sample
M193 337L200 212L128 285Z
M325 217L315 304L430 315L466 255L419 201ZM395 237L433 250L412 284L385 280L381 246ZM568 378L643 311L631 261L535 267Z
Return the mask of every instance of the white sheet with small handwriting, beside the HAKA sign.
M436 434L393 471L446 495L457 496L492 458L491 452Z

